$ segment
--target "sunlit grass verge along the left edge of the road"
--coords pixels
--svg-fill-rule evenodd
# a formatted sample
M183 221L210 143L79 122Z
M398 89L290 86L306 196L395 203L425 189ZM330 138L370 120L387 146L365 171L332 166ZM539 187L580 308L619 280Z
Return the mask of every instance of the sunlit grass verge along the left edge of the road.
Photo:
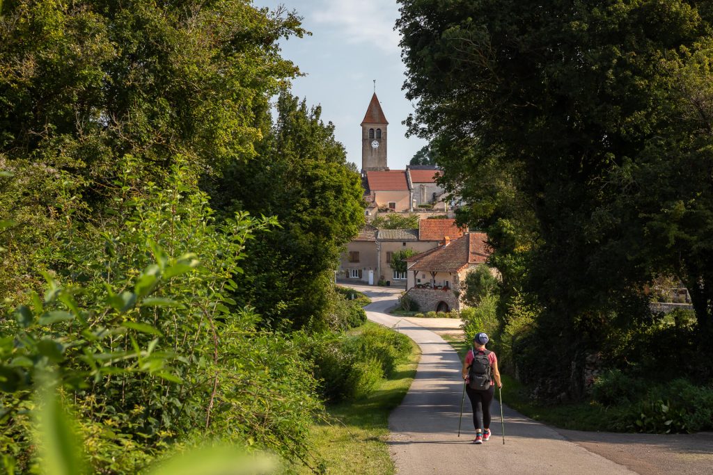
M376 323L366 323L376 325ZM315 424L310 437L327 474L393 474L389 456L389 412L401 404L411 381L421 350L411 342L411 354L394 375L384 380L368 397L327 407L329 422ZM303 469L303 474L311 473Z

